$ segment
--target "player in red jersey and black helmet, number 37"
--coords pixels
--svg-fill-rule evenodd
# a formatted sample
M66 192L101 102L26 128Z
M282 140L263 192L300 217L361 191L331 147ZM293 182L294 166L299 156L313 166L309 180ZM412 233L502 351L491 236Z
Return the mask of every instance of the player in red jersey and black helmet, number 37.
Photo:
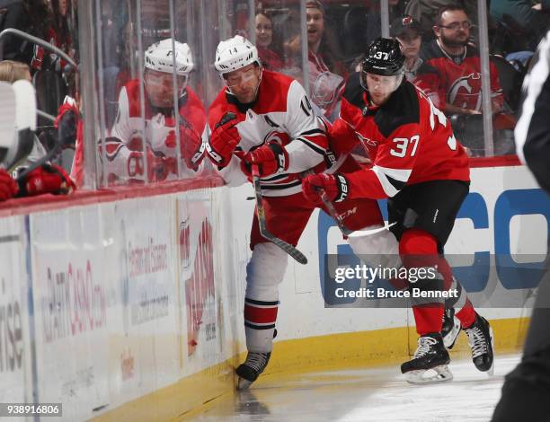
M469 189L468 158L445 115L404 80L404 55L397 40L379 38L368 48L360 74L350 77L331 146L345 154L363 142L373 166L352 173L317 174L303 180L304 195L318 201L324 189L336 202L388 198L389 223L399 240L405 268L437 268L439 277L416 283L423 290L448 290L456 281L443 246ZM346 192L344 197L342 192ZM436 267L437 266L437 267ZM457 286L456 288L459 288ZM452 378L441 336L443 301L412 300L418 348L401 370L411 382ZM492 330L466 294L454 306L472 347L475 366L492 369ZM433 369L434 377L424 373Z

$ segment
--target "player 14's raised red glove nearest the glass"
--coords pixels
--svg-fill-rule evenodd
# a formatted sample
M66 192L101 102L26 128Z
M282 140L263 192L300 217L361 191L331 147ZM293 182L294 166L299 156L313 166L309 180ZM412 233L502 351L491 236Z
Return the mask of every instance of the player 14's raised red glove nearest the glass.
M206 150L208 156L217 167L222 169L231 161L231 156L236 145L241 142L239 131L235 127L238 123L235 113L228 112L217 122L216 127L210 135Z

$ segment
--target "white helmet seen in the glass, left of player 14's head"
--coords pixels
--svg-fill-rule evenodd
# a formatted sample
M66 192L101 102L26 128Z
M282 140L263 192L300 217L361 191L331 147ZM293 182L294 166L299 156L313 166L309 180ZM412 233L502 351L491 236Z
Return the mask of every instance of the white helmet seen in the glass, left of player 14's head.
M189 75L193 69L191 48L187 43L173 41L171 38L155 42L146 49L145 66L147 69L171 74L174 56L176 75Z

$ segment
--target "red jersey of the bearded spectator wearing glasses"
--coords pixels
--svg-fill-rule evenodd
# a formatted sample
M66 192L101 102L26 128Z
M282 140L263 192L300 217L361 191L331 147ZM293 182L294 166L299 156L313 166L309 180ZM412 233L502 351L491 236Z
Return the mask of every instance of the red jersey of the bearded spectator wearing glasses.
M481 59L477 49L467 45L462 57L450 57L433 40L421 49L421 58L439 72L439 96L444 102L461 109L481 111ZM504 103L499 74L496 66L490 63L491 92L495 109L500 110Z

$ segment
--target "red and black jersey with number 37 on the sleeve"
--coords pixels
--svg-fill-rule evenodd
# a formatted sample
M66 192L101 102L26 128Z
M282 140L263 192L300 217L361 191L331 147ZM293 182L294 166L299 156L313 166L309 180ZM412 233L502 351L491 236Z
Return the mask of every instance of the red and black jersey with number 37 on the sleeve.
M404 81L381 107L368 107L368 94L352 75L340 118L330 129L331 148L345 154L359 141L373 162L345 174L348 198L391 198L405 184L469 180L468 157L450 122L426 95Z

